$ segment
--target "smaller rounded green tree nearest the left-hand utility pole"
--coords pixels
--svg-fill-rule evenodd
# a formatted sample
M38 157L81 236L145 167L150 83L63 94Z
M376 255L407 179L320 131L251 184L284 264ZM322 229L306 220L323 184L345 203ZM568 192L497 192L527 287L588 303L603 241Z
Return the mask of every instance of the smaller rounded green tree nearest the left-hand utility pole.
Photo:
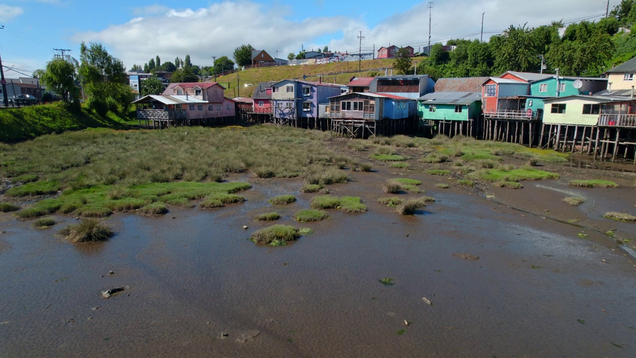
M62 96L66 103L79 103L79 91L75 86L76 66L73 62L60 58L53 59L46 64L46 69L36 72L47 90Z

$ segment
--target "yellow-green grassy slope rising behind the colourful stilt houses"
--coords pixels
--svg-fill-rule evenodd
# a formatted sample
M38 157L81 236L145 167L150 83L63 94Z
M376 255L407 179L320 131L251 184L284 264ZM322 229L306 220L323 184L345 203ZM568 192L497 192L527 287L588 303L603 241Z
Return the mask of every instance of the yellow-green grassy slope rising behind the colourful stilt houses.
M217 78L227 89L226 97L250 97L259 82L279 81L286 78L300 79L307 76L308 81L317 81L319 75L324 75L325 82L333 83L334 76L336 83L344 85L349 83L352 76L376 76L384 75L384 69L393 67L392 59L376 59L361 62L361 71L358 71L358 62L333 62L330 64L299 65L299 66L277 66L266 68L246 69L232 73L232 75ZM237 77L239 78L239 91L237 91ZM245 87L245 84L253 86Z

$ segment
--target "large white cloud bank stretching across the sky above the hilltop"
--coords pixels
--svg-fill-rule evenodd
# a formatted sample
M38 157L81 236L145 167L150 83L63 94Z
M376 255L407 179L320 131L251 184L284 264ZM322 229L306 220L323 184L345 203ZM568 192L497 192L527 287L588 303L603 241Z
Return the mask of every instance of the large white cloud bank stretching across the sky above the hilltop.
M316 4L320 4L318 0ZM397 13L368 28L362 17L321 17L289 20L289 8L263 6L250 1L223 1L198 9L170 9L161 5L136 8L137 16L125 24L111 25L101 31L75 34L74 41L99 41L111 53L130 67L160 55L164 61L190 54L192 62L206 65L212 56L232 57L239 45L250 43L279 57L305 48L322 48L356 53L357 35L363 31L367 39L363 48L371 51L381 46L411 45L417 50L428 43L428 3ZM547 9L541 11L537 9ZM538 26L553 20L574 20L598 15L597 0L579 0L576 6L565 1L552 0L454 0L435 3L432 9L431 43L472 35L479 38L481 13L485 12L484 39L501 32L509 25ZM368 10L371 11L371 10ZM376 10L374 10L376 11ZM377 10L380 11L380 10ZM315 43L329 34L342 34L328 43ZM363 52L364 52L363 50Z

